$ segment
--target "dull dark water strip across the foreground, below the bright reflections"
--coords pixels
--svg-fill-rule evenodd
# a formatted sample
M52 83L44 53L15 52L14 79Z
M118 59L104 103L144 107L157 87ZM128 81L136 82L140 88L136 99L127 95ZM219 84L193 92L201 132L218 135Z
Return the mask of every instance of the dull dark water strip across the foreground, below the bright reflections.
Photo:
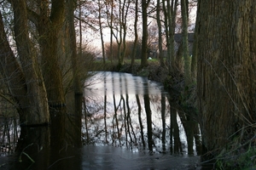
M198 156L172 156L170 154L153 154L131 152L113 146L84 146L81 149L67 149L59 156L51 156L44 150L33 156L32 163L26 156L17 163L17 156L3 157L0 169L197 169Z

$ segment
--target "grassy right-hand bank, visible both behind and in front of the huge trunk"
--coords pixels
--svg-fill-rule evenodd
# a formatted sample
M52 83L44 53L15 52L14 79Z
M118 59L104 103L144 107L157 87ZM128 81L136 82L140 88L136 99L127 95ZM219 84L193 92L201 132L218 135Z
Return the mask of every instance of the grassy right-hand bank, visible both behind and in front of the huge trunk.
M182 111L186 116L192 116L195 122L200 123L197 109L196 82L185 89L182 72L177 71L175 74L170 75L166 68L160 67L160 65L154 65L153 63L149 63L143 69L140 69L140 65L134 65L132 69L130 65L123 65L119 71L148 77L150 80L161 82L172 96L172 107L176 107L178 111ZM214 156L214 158L211 152L207 152L206 155L210 155L210 157L205 156L203 160L206 160L205 163L210 164L210 167L214 165L213 167L216 168L256 169L254 137L252 138L250 134L247 134L247 138L245 139L247 139L247 142L245 142L244 146L230 145L230 149L224 149L220 155ZM240 151L237 152L237 150ZM202 152L205 153L205 151Z

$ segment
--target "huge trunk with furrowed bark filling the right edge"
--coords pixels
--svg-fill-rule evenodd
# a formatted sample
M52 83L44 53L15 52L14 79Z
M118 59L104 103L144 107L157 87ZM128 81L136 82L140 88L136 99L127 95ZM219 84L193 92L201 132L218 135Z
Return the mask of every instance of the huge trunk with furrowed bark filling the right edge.
M256 121L256 2L199 1L197 93L203 144L244 144ZM247 137L246 137L247 136Z

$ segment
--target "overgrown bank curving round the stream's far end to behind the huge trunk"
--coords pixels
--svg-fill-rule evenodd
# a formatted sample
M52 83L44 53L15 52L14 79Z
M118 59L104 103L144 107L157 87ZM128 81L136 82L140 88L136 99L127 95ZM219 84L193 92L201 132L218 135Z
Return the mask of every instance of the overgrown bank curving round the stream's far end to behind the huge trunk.
M94 71L118 71L131 73L140 77L147 77L148 80L160 82L166 88L166 91L171 94L172 104L179 111L189 112L195 122L199 122L197 114L197 99L195 86L193 82L189 87L184 87L183 71L176 71L169 74L167 67L161 67L159 61L156 59L148 60L148 66L141 68L140 61L136 60L131 67L131 61L125 62L124 65L111 64L106 62L103 65L102 61L96 61L90 65L91 70Z

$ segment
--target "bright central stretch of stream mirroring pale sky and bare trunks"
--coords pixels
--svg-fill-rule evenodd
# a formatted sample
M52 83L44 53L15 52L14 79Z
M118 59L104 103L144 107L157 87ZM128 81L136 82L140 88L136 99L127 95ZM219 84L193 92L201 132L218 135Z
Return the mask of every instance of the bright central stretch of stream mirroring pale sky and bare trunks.
M126 73L98 72L85 86L84 143L201 154L198 123L177 109L160 83Z

